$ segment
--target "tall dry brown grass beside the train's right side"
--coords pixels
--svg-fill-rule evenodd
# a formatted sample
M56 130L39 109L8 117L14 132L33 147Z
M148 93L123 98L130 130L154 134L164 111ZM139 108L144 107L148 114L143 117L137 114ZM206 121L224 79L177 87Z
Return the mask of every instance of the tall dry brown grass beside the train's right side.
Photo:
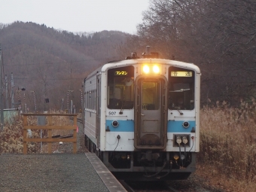
M200 116L197 173L227 191L256 188L256 102L204 107Z

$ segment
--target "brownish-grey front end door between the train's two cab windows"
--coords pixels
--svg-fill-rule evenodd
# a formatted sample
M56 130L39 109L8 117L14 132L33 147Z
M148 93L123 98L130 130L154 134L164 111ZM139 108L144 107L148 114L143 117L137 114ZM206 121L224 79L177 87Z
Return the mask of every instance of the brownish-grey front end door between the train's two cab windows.
M165 78L136 80L135 147L166 148L167 81Z

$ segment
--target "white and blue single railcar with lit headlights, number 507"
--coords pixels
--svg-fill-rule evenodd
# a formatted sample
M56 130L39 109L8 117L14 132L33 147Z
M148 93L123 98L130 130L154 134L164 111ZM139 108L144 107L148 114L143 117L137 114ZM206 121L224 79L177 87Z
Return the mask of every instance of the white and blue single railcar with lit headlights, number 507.
M200 69L148 51L84 80L85 145L121 179L186 179L200 151Z

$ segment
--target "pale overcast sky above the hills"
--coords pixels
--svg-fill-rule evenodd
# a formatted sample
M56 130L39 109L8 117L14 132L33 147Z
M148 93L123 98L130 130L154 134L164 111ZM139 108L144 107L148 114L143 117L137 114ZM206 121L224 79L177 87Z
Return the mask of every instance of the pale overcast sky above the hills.
M44 24L69 32L136 34L150 0L0 0L0 23Z

